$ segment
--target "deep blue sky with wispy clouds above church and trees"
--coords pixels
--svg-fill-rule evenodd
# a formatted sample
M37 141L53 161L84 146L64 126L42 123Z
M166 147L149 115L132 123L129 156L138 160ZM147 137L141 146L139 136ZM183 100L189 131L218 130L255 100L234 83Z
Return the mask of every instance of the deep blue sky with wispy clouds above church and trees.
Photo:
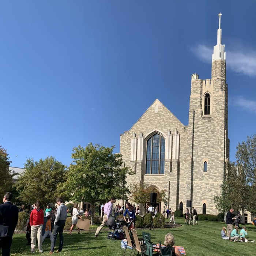
M0 145L11 166L116 145L158 98L188 125L222 12L230 159L256 126L256 1L1 1Z

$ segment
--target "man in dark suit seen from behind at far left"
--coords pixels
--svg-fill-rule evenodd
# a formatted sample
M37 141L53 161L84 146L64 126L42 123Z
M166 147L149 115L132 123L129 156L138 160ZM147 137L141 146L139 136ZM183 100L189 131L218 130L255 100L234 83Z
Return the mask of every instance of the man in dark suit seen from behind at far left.
M12 193L7 192L0 205L0 249L2 256L10 256L12 235L18 222L18 207L11 204ZM8 231L7 231L8 230Z

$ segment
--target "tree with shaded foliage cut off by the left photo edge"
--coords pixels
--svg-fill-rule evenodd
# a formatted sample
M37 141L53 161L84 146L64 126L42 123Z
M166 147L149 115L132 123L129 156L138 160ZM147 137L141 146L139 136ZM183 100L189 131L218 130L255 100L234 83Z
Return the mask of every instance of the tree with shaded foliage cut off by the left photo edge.
M9 157L6 149L0 146L0 196L3 198L5 192L10 191L12 187L12 177L14 174L9 172Z

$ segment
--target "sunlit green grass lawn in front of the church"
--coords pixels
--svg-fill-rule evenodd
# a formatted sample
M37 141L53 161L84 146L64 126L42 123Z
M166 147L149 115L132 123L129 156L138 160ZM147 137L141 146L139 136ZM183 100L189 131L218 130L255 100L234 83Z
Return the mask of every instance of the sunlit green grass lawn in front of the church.
M183 224L184 219L178 218L177 223ZM222 226L226 226L223 222L199 221L199 225L185 226L182 225L173 229L155 229L146 230L151 233L151 240L163 243L167 233L172 233L176 240L176 245L184 246L187 256L230 256L237 253L242 255L255 255L256 242L241 243L223 240L221 238ZM247 224L248 239L256 240L256 227ZM142 229L137 229L139 236L142 235ZM80 235L74 230L70 236L64 233L63 251L58 255L90 255L90 256L112 256L123 255L124 249L121 248L120 240L108 240L108 229L103 229L98 237L94 237L95 230L84 231ZM31 255L30 246L26 245L26 234L15 234L12 240L11 255ZM56 245L59 245L57 240ZM56 249L58 247L55 247ZM50 239L47 238L43 244L44 252L40 255L47 255L50 251ZM37 248L38 251L38 248ZM127 249L125 255L129 255L131 251ZM36 253L39 254L39 253Z

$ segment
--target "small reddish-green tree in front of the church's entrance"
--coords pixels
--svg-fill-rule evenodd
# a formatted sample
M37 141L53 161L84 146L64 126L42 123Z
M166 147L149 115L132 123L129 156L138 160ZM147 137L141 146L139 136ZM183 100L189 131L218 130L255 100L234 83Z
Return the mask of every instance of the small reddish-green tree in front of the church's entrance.
M130 199L135 203L141 203L146 210L146 204L150 202L150 194L157 193L157 203L166 201L166 189L161 192L149 183L135 183L131 185L131 197Z

